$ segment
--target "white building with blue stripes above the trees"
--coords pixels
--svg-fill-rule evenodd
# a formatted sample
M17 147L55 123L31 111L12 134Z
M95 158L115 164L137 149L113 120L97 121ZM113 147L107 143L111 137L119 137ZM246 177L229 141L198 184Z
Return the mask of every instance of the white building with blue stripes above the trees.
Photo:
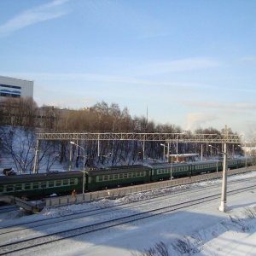
M0 98L33 97L34 81L0 76Z

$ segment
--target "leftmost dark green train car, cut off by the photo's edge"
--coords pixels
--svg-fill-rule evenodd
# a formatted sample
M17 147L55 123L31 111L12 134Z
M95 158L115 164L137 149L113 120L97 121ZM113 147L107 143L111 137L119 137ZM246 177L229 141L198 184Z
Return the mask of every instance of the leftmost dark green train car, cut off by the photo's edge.
M51 194L71 195L73 189L82 191L83 172L57 172L3 176L0 195L38 199Z

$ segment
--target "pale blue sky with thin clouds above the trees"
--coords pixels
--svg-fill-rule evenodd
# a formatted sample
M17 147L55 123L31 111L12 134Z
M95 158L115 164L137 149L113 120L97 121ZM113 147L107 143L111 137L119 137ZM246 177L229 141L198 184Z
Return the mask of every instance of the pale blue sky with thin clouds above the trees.
M183 130L256 128L256 1L3 0L1 75L39 106L105 101Z

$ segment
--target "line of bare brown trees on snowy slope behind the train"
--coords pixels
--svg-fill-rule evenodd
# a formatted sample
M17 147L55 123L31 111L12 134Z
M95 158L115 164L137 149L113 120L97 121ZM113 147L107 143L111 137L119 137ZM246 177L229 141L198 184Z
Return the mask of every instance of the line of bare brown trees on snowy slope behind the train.
M178 125L156 124L145 116L131 117L128 108L120 109L117 103L108 105L97 102L87 109L73 110L50 106L38 108L32 98L11 99L1 102L0 110L0 160L4 162L7 156L14 162L15 169L32 172L35 160L35 148L38 132L164 132L182 133ZM191 131L187 131L191 132ZM212 127L197 129L196 134L221 134ZM230 134L234 134L229 129ZM165 142L162 142L165 143ZM97 141L79 142L75 147L68 142L46 141L40 143L38 151L39 170L51 170L56 162L63 169L81 168L84 164L88 168L94 166L118 166L143 163L145 160L165 160L163 147L159 142L128 141ZM99 147L100 146L100 147ZM212 145L219 147L219 145ZM72 161L70 161L70 148ZM178 154L201 153L199 143L172 143L172 152ZM203 145L204 154L209 154L207 145ZM98 152L100 148L100 152ZM143 151L144 150L144 151ZM237 148L239 151L239 149ZM241 151L241 150L240 150ZM216 154L216 152L215 152Z

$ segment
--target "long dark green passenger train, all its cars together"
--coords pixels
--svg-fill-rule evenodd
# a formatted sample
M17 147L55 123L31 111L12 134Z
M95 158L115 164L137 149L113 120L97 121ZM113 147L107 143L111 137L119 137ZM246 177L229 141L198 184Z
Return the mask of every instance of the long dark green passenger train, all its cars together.
M44 198L49 195L71 195L73 189L78 193L111 189L139 183L151 183L171 177L190 177L202 172L222 171L221 160L189 162L177 164L156 164L151 166L123 166L72 172L49 172L39 174L14 175L0 177L0 195L15 195L28 199ZM250 165L249 159L228 160L228 168L240 168Z

